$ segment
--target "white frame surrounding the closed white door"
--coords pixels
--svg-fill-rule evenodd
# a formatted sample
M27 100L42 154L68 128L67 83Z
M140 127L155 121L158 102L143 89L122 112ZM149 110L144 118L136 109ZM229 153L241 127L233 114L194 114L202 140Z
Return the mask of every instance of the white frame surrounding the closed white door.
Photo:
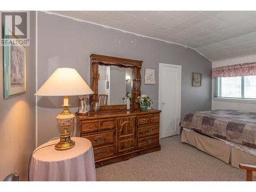
M178 114L176 116L177 119L177 126L178 126L178 135L180 135L180 126L179 126L179 122L180 122L180 118L181 118L181 70L182 67L179 65L173 65L173 64L168 64L168 63L159 63L159 74L158 74L158 109L161 110L161 91L162 91L162 71L161 71L161 67L173 67L173 68L178 68L179 69L179 75L180 75L180 83L178 83L178 93L177 93L177 111ZM161 114L160 114L160 134L159 137L161 139Z

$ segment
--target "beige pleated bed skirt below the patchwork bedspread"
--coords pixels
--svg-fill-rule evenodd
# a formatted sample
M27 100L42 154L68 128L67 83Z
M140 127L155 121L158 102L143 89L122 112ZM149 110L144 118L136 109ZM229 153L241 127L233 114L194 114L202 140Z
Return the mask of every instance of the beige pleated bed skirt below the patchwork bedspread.
M256 157L229 146L224 141L201 135L193 130L183 129L181 141L197 147L231 166L239 168L239 163L256 165ZM256 172L253 172L256 176Z

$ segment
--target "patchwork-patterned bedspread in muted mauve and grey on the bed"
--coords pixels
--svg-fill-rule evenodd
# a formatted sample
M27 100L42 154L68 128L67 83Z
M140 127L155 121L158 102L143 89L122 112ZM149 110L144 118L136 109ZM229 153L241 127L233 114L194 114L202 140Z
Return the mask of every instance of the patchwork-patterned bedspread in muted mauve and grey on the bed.
M181 127L256 149L256 113L214 110L187 114Z

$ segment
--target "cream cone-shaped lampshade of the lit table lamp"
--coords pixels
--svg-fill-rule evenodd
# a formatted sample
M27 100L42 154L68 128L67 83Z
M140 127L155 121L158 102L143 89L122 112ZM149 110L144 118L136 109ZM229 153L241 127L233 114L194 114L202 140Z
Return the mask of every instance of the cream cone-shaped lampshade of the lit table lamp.
M93 91L72 68L58 68L35 93L37 96L89 95Z

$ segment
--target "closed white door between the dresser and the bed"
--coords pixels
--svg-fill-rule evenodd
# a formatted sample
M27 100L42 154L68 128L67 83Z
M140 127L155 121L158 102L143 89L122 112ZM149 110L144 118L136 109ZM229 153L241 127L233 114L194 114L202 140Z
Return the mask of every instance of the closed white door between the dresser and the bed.
M181 66L159 63L160 137L179 134Z

